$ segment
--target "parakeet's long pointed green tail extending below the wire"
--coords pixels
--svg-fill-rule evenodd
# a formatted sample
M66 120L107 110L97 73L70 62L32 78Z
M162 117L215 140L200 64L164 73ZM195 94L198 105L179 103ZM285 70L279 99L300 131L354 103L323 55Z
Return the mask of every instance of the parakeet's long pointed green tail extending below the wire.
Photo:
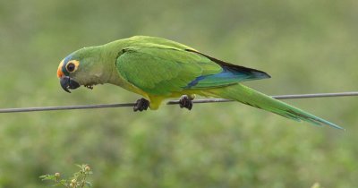
M297 107L292 107L280 100L271 98L263 93L260 93L259 91L252 90L251 88L240 83L223 88L207 90L207 92L209 96L234 99L242 102L243 104L258 107L298 122L303 120L315 125L328 124L334 128L343 129L337 124L330 123L318 116L311 115L310 113L304 112Z

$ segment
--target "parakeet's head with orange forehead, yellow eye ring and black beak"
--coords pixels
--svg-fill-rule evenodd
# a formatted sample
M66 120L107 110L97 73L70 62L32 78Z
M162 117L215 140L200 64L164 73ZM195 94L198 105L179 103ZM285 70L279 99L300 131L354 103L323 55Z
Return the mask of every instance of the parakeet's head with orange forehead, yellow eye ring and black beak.
M81 85L92 89L93 85L102 82L103 64L100 62L98 47L85 47L66 56L58 65L57 77L61 87L70 90Z

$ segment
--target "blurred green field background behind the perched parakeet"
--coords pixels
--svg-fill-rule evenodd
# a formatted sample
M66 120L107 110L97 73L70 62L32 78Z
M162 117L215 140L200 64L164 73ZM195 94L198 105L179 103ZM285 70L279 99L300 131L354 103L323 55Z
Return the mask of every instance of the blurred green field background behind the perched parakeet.
M72 51L118 38L170 38L266 71L269 95L356 90L358 2L1 1L0 107L132 102L112 85L65 93ZM345 127L296 123L238 103L0 115L0 187L90 164L94 187L358 186L357 98L286 101Z

